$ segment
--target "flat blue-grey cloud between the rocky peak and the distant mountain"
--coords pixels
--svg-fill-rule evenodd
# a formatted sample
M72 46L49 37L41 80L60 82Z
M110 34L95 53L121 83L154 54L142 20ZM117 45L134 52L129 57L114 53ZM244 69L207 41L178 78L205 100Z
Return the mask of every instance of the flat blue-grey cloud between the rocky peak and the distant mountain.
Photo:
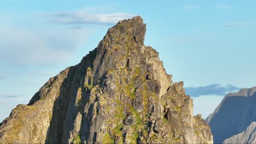
M212 84L208 86L202 87L187 87L185 88L186 94L190 95L191 97L200 97L201 95L226 95L229 92L238 91L238 87L233 85L219 85L219 84Z

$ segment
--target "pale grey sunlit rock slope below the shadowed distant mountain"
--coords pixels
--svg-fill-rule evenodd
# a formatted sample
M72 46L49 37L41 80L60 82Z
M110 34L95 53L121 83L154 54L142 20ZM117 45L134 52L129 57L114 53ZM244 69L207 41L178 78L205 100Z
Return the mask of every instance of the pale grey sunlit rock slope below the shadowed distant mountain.
M256 122L252 122L242 133L229 137L224 143L256 143Z

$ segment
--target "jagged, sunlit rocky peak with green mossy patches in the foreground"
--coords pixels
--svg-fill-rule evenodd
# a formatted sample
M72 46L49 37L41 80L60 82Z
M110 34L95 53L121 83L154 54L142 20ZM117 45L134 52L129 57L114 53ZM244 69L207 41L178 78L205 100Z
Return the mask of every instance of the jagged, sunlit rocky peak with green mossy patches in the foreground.
M212 143L183 82L172 84L158 52L144 46L145 33L139 16L109 28L78 65L4 119L0 143Z

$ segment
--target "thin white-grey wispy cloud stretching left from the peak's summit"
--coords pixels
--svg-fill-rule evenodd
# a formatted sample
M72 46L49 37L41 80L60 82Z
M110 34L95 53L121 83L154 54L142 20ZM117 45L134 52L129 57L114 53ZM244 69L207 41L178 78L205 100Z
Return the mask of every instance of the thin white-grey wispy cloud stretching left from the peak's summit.
M44 21L57 25L66 25L67 28L81 29L84 25L112 26L120 20L131 19L134 14L120 13L115 10L120 4L110 3L94 5L72 11L40 12Z

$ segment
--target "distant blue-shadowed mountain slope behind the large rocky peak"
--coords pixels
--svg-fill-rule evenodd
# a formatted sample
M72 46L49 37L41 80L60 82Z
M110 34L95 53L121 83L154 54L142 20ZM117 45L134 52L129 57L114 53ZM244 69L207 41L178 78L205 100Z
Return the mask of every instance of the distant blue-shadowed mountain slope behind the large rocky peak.
M225 139L242 133L256 121L255 101L256 87L243 88L224 97L214 113L207 118L214 143L223 143Z

